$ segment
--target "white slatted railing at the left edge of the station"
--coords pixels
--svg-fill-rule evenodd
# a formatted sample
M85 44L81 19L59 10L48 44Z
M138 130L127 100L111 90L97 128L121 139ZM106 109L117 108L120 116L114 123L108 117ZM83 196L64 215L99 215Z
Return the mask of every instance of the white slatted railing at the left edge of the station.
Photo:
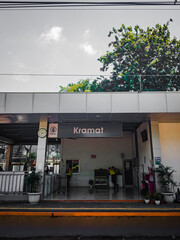
M0 193L20 194L24 189L24 172L0 172Z

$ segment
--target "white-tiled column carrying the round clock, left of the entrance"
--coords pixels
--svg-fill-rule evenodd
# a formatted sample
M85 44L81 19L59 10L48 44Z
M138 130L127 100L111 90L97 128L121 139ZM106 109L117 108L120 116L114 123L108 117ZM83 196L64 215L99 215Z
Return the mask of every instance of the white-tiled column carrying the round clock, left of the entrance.
M47 116L41 116L40 122L39 122L39 129L44 128L47 130L47 124L48 124ZM42 183L41 183L41 189L40 189L41 192L43 192L46 142L47 142L47 136L38 137L36 172L39 172L39 171L42 172Z

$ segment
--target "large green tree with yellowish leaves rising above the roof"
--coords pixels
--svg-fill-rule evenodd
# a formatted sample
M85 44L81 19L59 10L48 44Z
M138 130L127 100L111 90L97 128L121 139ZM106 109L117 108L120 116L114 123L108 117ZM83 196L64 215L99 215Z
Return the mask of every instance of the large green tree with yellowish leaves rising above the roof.
M170 19L172 21L172 19ZM108 51L98 60L101 70L113 67L109 79L102 78L98 91L180 89L180 41L170 38L169 21L143 30L139 26L113 28Z

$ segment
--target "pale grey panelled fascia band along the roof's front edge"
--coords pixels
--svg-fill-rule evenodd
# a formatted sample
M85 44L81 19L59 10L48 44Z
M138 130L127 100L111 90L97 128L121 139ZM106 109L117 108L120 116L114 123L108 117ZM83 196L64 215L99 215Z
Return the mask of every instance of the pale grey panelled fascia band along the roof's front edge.
M19 113L180 113L180 91L0 93L0 114Z

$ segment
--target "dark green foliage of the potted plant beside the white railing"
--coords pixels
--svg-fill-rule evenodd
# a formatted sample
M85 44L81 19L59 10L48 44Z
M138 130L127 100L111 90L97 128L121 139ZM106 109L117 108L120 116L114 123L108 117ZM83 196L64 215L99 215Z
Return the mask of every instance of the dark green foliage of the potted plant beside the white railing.
M41 182L41 178L42 178L42 175L41 175L41 172L35 172L33 171L32 173L30 173L25 181L27 183L28 186L30 186L30 191L31 192L37 192L37 189L40 185L40 182Z

